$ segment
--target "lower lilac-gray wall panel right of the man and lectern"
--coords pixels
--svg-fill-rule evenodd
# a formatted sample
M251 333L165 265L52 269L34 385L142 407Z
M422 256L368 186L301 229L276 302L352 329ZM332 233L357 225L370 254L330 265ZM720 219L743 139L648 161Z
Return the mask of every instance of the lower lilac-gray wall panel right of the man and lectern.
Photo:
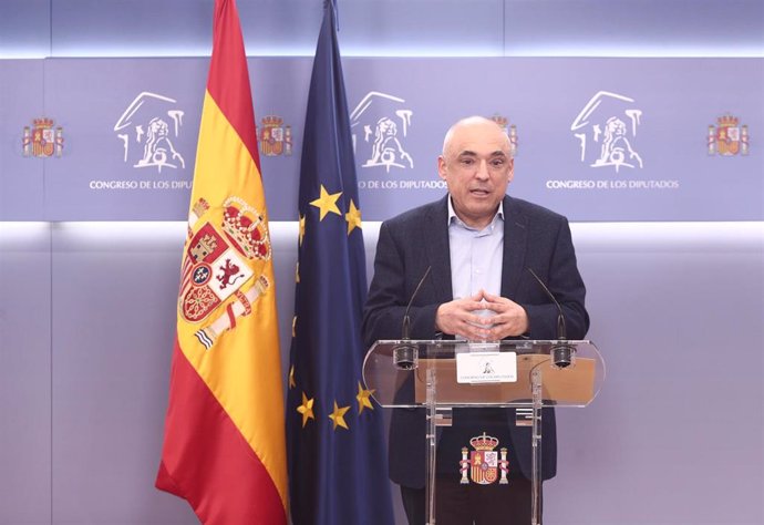
M608 377L591 406L558 411L559 474L547 484L546 517L762 523L764 229L578 224L574 231L589 337Z

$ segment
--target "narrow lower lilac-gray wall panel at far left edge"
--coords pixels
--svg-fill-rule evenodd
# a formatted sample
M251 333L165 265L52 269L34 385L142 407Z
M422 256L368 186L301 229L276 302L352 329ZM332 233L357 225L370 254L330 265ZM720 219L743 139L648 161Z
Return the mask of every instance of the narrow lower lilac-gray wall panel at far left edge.
M0 524L51 516L50 225L0 223Z

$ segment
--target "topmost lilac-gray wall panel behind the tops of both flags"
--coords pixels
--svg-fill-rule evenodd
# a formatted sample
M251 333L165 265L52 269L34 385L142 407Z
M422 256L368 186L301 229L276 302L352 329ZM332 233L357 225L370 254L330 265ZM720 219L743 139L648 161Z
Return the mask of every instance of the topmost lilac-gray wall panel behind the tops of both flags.
M249 55L312 55L322 3L308 0L237 2ZM436 13L436 16L434 16ZM500 55L500 0L340 1L345 55ZM54 0L53 56L207 55L210 0ZM87 31L83 31L83 27Z

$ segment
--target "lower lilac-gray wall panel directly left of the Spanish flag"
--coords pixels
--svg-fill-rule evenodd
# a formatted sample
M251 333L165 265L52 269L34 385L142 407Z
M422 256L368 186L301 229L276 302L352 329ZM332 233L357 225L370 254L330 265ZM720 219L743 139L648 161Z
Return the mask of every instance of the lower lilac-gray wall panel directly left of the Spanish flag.
M54 523L196 523L154 488L184 235L177 223L53 228Z

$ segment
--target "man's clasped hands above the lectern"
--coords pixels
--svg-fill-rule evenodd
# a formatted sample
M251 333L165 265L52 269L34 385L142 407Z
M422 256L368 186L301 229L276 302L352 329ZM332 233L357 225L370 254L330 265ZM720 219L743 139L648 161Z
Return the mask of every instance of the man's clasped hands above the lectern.
M469 341L498 341L525 333L528 315L517 302L481 290L472 297L441 305L435 326L443 333Z

